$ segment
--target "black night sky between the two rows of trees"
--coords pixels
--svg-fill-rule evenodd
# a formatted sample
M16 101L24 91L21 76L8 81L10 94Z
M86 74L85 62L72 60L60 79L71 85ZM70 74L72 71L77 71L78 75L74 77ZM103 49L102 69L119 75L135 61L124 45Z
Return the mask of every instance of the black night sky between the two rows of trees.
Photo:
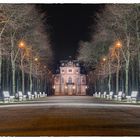
M40 8L47 14L55 62L75 58L80 40L90 39L90 26L94 15L103 5L96 4L44 4Z

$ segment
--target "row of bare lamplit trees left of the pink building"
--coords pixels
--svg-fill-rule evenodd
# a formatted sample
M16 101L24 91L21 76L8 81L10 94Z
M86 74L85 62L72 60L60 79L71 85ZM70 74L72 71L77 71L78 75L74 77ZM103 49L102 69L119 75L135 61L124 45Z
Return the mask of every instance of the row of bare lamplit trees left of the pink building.
M0 4L0 96L46 91L52 50L43 17L35 5Z

